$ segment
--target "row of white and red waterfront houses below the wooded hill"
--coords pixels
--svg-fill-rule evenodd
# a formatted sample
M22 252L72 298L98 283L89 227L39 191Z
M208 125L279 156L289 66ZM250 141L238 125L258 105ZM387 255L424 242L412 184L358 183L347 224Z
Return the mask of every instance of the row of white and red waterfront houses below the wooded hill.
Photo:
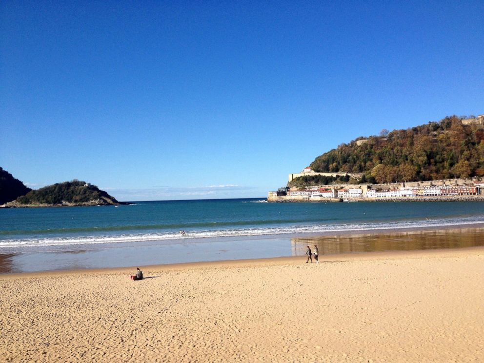
M428 187L401 187L398 189L377 190L371 187L361 188L343 188L328 189L321 187L312 187L303 190L290 190L289 188L280 188L277 196L289 197L306 197L306 198L339 198L339 199L391 199L391 198L416 198L416 197L438 197L438 196L465 196L479 195L484 190L484 183L474 185L444 185Z

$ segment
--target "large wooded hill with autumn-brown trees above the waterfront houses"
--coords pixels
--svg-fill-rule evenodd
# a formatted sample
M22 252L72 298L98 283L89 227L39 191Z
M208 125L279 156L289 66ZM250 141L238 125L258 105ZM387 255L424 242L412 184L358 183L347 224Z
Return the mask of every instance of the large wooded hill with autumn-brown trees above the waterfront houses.
M484 129L452 116L406 130L383 130L380 136L339 145L311 167L316 172L363 173L361 183L482 177Z

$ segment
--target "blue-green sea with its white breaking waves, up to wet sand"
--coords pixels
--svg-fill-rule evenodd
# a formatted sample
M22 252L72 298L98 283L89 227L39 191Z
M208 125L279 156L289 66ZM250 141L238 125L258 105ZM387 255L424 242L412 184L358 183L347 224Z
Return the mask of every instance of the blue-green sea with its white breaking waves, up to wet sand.
M0 209L0 253L80 244L338 233L484 223L484 202L267 203L263 199ZM180 230L185 235L180 235Z

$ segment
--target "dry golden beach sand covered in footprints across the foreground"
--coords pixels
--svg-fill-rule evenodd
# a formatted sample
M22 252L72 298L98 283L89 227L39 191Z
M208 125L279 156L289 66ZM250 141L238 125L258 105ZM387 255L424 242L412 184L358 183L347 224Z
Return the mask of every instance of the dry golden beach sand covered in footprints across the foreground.
M0 361L484 362L484 249L0 275ZM130 272L134 272L131 269Z

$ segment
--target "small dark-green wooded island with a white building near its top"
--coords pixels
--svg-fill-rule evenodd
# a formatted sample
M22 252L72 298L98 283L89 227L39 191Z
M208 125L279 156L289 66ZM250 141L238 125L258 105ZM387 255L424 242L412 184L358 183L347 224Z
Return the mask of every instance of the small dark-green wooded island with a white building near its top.
M111 197L96 185L73 180L56 183L37 190L31 190L26 195L8 203L11 206L32 205L108 205L123 204Z

